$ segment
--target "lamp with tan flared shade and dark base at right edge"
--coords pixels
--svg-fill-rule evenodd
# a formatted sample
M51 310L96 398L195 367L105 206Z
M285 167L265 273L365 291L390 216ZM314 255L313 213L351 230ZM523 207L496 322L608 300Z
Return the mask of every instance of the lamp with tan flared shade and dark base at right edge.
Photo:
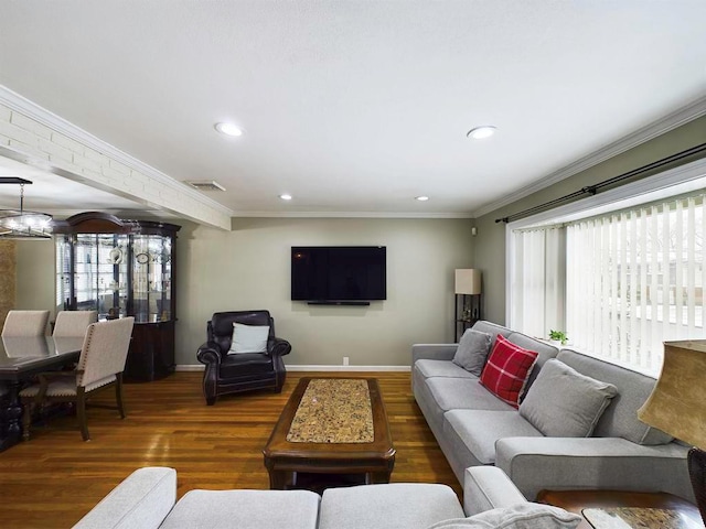
M687 466L696 505L706 523L706 341L664 343L664 364L640 420L694 447Z

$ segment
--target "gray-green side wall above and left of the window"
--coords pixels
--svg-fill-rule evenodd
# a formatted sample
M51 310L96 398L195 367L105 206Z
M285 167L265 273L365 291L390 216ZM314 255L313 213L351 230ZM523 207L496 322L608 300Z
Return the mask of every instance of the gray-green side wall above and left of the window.
M505 225L496 218L558 198L670 154L706 142L706 117L477 219L474 267L483 272L483 317L505 323Z

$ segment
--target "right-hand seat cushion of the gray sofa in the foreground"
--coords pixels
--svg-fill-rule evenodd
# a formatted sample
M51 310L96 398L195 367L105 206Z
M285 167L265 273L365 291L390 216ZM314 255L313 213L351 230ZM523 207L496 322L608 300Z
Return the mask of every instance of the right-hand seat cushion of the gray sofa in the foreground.
M319 529L425 528L462 516L463 508L453 489L447 485L360 485L324 490Z

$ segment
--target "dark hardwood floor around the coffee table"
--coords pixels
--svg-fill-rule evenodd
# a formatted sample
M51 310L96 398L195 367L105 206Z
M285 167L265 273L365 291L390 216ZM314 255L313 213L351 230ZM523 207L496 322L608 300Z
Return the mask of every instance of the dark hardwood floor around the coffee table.
M303 376L378 379L397 450L392 482L461 486L429 431L409 386L409 373L288 373L280 395L222 397L206 406L201 373L125 387L127 418L92 407L92 441L74 417L32 430L32 439L0 453L0 526L71 527L140 466L176 468L181 497L193 488L269 488L261 450L287 398ZM113 403L108 390L96 403Z

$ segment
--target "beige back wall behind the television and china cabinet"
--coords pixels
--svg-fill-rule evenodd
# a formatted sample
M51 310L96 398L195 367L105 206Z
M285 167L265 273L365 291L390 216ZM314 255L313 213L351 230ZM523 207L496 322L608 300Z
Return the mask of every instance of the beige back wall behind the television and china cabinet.
M172 222L172 220L170 220ZM268 309L289 365L409 366L410 345L453 339L453 270L470 268L469 219L234 219L233 230L174 222L176 364L199 365L214 312ZM370 306L290 301L291 246L387 247L387 300ZM54 307L54 245L18 242L19 309Z

